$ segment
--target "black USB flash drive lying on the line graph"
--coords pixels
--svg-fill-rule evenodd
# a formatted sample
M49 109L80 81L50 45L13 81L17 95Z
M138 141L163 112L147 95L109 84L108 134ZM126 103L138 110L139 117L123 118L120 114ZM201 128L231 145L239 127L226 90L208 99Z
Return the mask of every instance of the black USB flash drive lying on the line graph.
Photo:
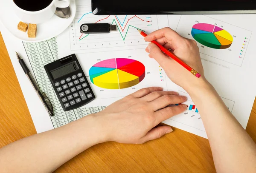
M109 23L84 23L80 26L80 32L84 34L109 33L116 31L116 25Z

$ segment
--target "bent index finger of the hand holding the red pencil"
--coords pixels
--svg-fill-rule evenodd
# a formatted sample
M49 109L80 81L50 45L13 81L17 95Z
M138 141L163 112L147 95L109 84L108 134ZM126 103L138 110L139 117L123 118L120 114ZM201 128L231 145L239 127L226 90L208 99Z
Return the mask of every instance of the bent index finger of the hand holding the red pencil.
M174 41L175 43L178 43L179 41L183 40L183 37L181 37L177 32L172 30L169 27L159 29L157 31L152 32L151 34L148 34L144 40L145 41L153 41L157 40L159 38L166 37L169 41Z

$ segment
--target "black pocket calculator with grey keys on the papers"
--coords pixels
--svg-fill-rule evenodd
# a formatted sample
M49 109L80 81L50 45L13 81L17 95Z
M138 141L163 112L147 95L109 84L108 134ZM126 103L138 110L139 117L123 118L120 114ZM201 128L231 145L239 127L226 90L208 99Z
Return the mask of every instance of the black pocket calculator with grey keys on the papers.
M95 99L75 54L51 62L44 68L64 111L78 108Z

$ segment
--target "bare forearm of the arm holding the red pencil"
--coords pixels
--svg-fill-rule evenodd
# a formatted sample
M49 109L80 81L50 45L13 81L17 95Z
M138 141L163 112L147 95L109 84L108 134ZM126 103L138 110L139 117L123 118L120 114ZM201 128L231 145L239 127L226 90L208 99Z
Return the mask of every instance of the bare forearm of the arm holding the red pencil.
M256 145L207 81L189 91L204 123L218 172L256 172ZM199 87L199 86L198 86ZM241 159L238 159L241 158Z

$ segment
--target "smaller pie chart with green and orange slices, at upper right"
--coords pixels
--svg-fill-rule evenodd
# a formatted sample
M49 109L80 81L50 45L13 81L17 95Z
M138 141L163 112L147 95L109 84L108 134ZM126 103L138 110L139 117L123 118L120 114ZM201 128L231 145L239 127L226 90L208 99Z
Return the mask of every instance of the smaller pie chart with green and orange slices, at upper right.
M209 48L225 49L233 43L233 37L229 32L208 23L195 24L191 34L196 41Z

